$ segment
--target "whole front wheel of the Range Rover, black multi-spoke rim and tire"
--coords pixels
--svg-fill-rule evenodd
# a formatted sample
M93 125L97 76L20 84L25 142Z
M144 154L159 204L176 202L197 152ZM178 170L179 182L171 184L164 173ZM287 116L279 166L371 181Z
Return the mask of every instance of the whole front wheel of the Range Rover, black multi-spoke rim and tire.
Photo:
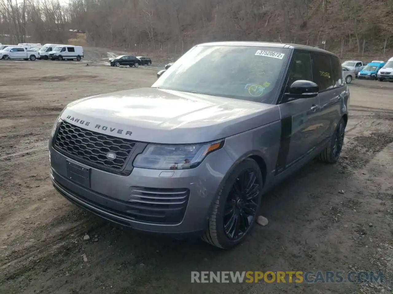
M221 249L233 248L244 241L255 224L262 191L261 169L255 160L246 158L222 184L202 240Z

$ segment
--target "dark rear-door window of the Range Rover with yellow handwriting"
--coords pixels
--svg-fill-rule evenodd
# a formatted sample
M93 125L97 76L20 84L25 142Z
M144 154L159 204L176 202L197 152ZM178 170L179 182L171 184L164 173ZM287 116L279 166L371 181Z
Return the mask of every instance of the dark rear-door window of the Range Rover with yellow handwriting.
M314 77L320 88L320 91L331 89L333 87L333 76L330 56L314 53L314 67Z

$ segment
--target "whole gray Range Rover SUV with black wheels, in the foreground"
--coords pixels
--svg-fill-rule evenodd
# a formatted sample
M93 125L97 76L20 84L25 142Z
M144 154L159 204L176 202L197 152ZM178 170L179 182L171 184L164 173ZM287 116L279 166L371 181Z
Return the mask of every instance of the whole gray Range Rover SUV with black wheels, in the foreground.
M107 220L228 249L272 185L315 157L337 162L348 103L328 51L196 45L149 88L68 104L51 132L51 179Z

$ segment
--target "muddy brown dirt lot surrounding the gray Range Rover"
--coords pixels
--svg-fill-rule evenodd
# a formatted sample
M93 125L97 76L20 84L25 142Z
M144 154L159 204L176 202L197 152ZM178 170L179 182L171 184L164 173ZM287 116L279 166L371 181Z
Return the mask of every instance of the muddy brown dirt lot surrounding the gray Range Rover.
M0 293L390 293L386 284L191 284L190 271L382 270L393 281L393 83L353 81L340 162L310 163L266 195L269 224L233 250L139 234L61 198L47 151L55 117L77 98L150 86L156 71L0 62Z

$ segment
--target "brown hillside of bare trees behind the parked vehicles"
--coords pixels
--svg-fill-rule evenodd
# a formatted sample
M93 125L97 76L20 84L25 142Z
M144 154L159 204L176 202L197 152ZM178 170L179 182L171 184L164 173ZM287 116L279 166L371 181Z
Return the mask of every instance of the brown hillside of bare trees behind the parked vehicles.
M389 17L390 15L390 17ZM393 0L0 0L0 33L97 47L178 53L200 42L263 40L360 53L393 48ZM325 44L322 44L325 41Z

